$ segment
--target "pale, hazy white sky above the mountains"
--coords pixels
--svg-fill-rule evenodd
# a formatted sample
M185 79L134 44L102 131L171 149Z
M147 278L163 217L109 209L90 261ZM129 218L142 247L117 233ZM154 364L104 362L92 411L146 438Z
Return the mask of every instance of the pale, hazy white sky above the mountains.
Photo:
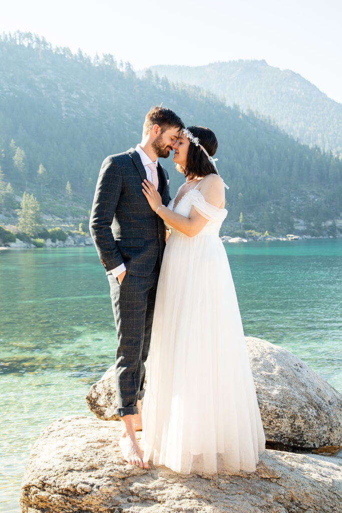
M341 0L1 0L0 31L112 53L135 69L265 59L342 103Z

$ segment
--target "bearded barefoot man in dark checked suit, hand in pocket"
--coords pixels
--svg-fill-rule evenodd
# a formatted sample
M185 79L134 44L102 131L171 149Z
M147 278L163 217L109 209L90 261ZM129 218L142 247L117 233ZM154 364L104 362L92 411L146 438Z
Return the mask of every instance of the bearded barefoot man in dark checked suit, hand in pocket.
M122 419L120 447L126 461L139 467L143 453L135 431L142 429L145 361L148 356L160 265L165 248L164 221L142 192L148 179L169 202L169 180L158 157L167 158L182 120L170 109L146 114L143 139L135 149L110 155L99 172L89 228L110 284L117 331L115 382Z

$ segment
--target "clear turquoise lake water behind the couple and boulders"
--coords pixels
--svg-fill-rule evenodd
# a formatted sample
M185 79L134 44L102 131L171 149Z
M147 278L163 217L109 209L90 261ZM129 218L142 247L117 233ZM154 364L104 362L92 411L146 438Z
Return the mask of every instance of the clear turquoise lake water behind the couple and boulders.
M227 244L246 336L295 353L342 392L342 240ZM114 363L93 247L0 251L0 511L17 513L30 449Z

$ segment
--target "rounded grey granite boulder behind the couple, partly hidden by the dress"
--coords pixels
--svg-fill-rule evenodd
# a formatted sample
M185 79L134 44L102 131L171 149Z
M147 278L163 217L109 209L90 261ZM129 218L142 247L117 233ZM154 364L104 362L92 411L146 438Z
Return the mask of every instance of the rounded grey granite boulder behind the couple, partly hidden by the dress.
M342 446L342 396L290 351L246 337L267 446L334 452ZM89 390L96 417L119 420L114 366Z

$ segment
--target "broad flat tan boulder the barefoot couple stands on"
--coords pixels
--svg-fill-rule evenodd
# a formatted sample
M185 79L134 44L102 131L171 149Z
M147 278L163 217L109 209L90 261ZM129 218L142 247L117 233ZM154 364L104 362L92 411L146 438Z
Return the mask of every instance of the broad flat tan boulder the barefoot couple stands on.
M120 455L118 422L62 418L32 448L22 513L331 513L342 503L341 460L266 450L256 471L179 475Z

